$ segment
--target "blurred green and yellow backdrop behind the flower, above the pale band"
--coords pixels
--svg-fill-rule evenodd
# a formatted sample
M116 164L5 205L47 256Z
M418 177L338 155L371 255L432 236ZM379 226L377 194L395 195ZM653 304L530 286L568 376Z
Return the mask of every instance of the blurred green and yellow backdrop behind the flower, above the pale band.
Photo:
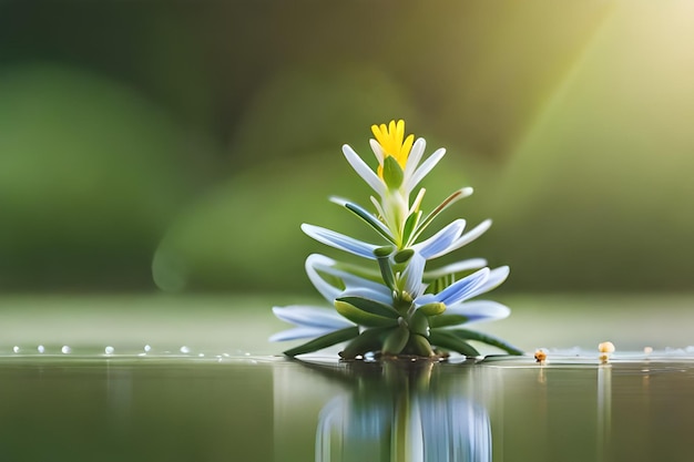
M370 237L327 197L401 117L504 290L691 290L692 43L674 0L0 1L0 289L313 292L300 223Z

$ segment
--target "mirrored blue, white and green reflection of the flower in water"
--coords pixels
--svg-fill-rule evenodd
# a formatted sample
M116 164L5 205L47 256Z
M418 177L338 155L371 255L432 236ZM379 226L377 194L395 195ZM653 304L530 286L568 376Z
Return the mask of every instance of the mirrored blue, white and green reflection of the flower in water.
M322 410L316 461L491 461L487 410L456 374L420 361L326 369L354 381ZM472 371L469 371L472 373Z

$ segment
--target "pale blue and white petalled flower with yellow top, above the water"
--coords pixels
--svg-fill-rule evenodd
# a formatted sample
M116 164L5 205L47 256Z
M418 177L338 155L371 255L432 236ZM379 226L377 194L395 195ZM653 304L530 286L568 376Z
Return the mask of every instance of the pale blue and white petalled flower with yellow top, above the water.
M370 143L378 161L376 172L348 145L343 152L357 174L376 192L377 197L371 196L376 213L346 199L333 198L333 202L366 222L380 235L382 243L365 243L308 224L302 229L323 244L376 261L377 266L363 267L322 255L309 256L306 260L309 279L341 317L317 307L276 307L277 317L297 327L273 336L272 340L317 337L285 351L289 356L346 340L350 342L341 352L344 358L367 352L433 356L432 346L478 356L468 340L520 353L499 339L455 328L509 315L509 309L498 302L469 301L503 283L508 267L489 269L487 261L480 258L438 269L428 267L431 260L461 248L489 228L491 222L486 220L463 234L466 222L457 219L431 237L420 239L443 209L470 195L472 189L455 192L423 215L420 205L425 189L420 188L411 202L410 194L446 151L438 150L421 162L426 142L405 136L402 121L374 125L371 130L376 137Z

